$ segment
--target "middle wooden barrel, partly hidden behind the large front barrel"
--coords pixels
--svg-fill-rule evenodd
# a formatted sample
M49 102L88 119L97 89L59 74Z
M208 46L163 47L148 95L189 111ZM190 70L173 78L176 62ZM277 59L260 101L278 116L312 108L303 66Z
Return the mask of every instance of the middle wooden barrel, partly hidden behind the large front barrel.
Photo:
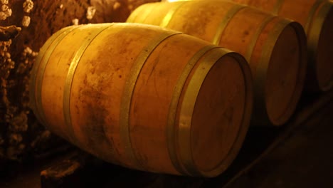
M144 4L127 22L171 28L245 56L255 86L253 124L282 125L294 112L307 66L299 23L223 0Z

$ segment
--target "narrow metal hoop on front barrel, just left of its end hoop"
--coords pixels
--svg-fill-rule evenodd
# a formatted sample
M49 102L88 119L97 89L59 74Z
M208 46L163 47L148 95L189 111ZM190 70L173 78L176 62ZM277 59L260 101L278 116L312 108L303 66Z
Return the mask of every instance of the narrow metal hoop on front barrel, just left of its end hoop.
M194 56L190 59L190 61L186 64L183 72L181 73L179 79L177 80L177 83L174 87L174 91L172 93L171 103L169 105L169 113L168 113L168 122L166 127L166 143L168 147L169 157L174 164L174 167L180 174L188 174L191 175L191 173L186 172L186 169L184 169L181 165L181 162L178 160L178 155L176 153L176 110L179 103L179 97L181 95L181 90L184 87L184 84L186 82L186 79L189 76L189 73L191 73L192 68L196 65L196 63L199 61L199 59L204 56L208 51L210 51L213 48L218 48L217 46L205 46L201 48L200 51L196 52Z

